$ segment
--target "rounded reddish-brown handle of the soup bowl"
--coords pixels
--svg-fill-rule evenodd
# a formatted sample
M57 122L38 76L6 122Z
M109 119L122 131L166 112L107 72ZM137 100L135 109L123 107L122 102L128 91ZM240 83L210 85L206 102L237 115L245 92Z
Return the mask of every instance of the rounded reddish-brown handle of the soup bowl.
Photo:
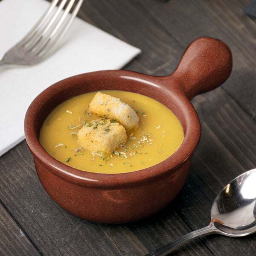
M231 70L230 48L218 39L201 37L187 47L176 70L166 78L191 100L224 83Z

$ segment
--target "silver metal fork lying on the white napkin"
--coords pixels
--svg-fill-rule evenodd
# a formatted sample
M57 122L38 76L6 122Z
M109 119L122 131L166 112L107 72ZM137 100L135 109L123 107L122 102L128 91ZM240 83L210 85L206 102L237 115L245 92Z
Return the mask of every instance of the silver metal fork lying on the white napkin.
M83 0L53 0L35 26L3 55L0 66L32 65L47 58L67 32L82 3Z

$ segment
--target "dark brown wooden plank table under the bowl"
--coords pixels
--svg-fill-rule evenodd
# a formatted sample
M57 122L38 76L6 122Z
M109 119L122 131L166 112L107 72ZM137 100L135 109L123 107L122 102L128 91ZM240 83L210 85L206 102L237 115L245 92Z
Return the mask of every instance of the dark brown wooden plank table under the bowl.
M142 49L126 70L170 74L191 41L211 36L229 45L233 71L221 87L192 100L202 136L189 177L171 204L144 220L108 225L77 218L44 191L25 141L0 157L0 255L141 256L209 224L219 190L256 166L256 20L243 11L249 2L84 0L79 17ZM175 255L253 256L256 234L209 235Z

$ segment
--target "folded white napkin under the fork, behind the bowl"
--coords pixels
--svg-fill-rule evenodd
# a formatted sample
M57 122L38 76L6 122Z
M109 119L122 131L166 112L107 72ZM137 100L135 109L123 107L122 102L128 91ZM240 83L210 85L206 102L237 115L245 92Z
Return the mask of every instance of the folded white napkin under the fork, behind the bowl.
M48 6L45 0L0 1L0 58ZM42 90L80 73L120 69L139 53L140 49L76 18L45 61L35 66L0 67L0 156L24 139L26 110Z

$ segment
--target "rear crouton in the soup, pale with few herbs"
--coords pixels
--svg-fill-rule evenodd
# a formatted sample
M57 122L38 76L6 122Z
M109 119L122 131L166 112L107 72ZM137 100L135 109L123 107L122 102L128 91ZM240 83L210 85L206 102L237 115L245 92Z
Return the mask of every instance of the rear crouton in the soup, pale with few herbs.
M136 112L124 102L119 99L98 92L90 102L89 111L98 116L106 116L115 119L126 130L137 128L139 125L139 117Z

